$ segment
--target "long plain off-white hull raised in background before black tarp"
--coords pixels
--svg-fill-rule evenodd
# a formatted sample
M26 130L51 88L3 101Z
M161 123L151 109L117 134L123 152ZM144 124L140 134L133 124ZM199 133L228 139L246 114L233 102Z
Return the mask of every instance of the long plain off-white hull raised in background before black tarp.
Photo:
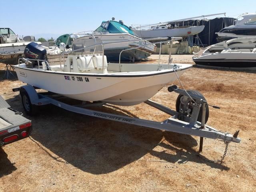
M186 28L159 29L159 30L133 30L140 38L156 37L186 37L198 34L204 30L204 26L191 26Z

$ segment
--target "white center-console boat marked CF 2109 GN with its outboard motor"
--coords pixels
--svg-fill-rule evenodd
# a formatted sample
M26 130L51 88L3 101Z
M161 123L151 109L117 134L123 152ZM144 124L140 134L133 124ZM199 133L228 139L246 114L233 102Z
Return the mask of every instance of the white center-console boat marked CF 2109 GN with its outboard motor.
M166 39L168 38L165 41ZM172 38L172 41L179 39L181 38ZM101 42L96 45L105 47L108 44L112 43ZM136 105L154 96L166 84L192 67L190 64L171 64L171 59L169 64L107 63L105 50L103 49L103 54L95 51L95 44L71 51L64 65L51 66L46 60L42 60L46 50L40 45L33 45L34 47L28 47L28 61L14 66L18 79L32 86L84 101ZM33 53L38 57L35 58Z

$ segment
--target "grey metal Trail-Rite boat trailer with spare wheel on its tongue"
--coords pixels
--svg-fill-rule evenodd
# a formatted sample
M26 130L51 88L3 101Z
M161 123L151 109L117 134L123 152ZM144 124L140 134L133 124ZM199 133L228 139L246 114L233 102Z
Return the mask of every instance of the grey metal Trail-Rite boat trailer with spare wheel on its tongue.
M106 102L89 102L89 104L81 105L70 105L64 102L58 101L58 98L51 96L58 95L52 92L37 93L36 87L31 85L21 86L20 88L14 88L13 91L20 91L20 96L22 98L22 104L24 110L29 115L34 115L38 112L38 107L47 104L53 104L60 108L68 111L76 112L79 114L84 114L88 116L114 120L118 122L124 122L128 124L134 124L138 126L144 126L148 128L154 128L159 130L165 130L170 132L176 132L180 134L188 134L200 137L200 148L199 152L202 152L203 138L211 138L222 140L227 146L230 142L239 143L241 141L238 138L239 130L234 133L234 135L216 130L208 125L206 122L209 116L210 106L204 96L196 90L182 90L176 85L169 86L169 92L176 92L179 94L176 100L176 110L172 110L158 104L152 100L147 100L144 103L169 114L171 117L164 120L163 122L156 122L152 120L145 120L140 118L134 118L125 115L116 115L112 113L100 112L96 110L90 110L86 107L91 106L103 106ZM58 95L60 96L60 95ZM214 108L219 108L218 106L212 106ZM224 156L226 155L226 150ZM222 160L224 159L224 156Z

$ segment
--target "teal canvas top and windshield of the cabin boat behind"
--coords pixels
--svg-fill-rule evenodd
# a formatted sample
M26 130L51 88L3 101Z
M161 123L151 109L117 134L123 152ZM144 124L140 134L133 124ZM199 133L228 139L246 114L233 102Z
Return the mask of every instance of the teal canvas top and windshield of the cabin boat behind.
M129 33L135 35L134 32L126 25L117 21L103 21L94 32L109 32L109 33Z

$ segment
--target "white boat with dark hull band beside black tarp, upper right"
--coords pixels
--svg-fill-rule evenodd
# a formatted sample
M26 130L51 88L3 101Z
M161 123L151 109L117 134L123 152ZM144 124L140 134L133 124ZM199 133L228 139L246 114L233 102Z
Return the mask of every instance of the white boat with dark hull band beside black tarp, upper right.
M238 19L235 25L225 27L216 33L219 41L256 36L256 13L245 13Z

